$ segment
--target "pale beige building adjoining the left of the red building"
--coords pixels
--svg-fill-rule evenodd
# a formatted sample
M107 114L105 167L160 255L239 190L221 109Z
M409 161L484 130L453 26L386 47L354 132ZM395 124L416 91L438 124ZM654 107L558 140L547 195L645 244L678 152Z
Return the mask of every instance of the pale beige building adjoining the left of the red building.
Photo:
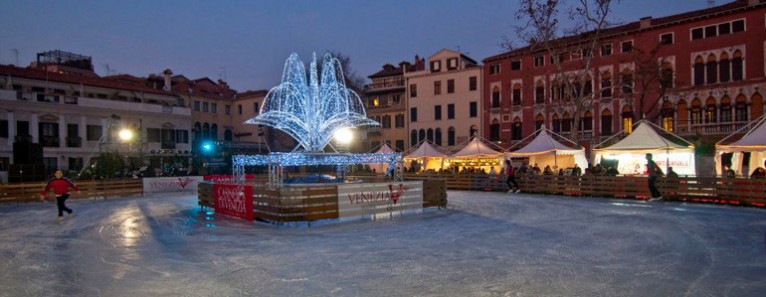
M430 56L427 65L404 74L409 146L428 140L453 148L483 135L481 66L448 49Z

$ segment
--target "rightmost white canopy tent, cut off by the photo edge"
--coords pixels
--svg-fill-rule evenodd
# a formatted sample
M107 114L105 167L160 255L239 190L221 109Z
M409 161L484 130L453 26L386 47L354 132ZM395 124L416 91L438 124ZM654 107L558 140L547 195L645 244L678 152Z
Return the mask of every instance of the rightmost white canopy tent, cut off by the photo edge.
M742 127L742 129L739 129L732 134L729 134L729 136L726 136L724 139L721 139L721 141L716 143L715 169L718 175L721 175L723 167L721 155L724 153L733 154L731 158L731 169L734 170L737 175L749 176L749 172L752 172L755 170L755 168L763 166L763 161L766 160L765 121L766 115L761 116L751 124ZM745 133L745 135L742 136L742 138L739 140L729 144L723 144L729 141L729 139L733 136L742 134L744 131L747 131L747 133ZM744 159L744 154L746 152L750 153L750 162L748 162L747 167L747 171L749 172L744 171L745 168L742 166L742 160Z

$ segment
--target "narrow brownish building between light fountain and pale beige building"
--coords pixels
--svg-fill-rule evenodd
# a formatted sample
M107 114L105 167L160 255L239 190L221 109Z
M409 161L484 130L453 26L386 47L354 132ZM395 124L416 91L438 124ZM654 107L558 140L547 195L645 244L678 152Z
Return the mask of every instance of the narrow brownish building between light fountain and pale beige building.
M409 147L404 74L424 69L425 59L415 56L414 64L406 61L398 67L386 64L382 70L368 76L372 84L364 90L367 116L380 123L380 127L367 129L368 150L377 149L384 142L398 151Z

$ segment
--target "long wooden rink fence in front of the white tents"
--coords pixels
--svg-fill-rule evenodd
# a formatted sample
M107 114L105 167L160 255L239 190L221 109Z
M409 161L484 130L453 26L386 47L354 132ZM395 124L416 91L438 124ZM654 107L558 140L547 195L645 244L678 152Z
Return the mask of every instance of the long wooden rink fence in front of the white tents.
M407 179L444 180L447 189L507 191L505 176L486 174L413 174ZM523 192L646 199L645 176L558 176L520 175L516 182ZM657 189L667 200L766 207L766 179L679 177L657 179Z

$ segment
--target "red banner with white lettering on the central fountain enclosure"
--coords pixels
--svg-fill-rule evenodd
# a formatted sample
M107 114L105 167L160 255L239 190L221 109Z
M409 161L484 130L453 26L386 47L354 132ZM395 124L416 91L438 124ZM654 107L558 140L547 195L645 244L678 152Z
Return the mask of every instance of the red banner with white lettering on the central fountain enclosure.
M253 214L253 186L238 184L213 184L215 213L255 220Z

